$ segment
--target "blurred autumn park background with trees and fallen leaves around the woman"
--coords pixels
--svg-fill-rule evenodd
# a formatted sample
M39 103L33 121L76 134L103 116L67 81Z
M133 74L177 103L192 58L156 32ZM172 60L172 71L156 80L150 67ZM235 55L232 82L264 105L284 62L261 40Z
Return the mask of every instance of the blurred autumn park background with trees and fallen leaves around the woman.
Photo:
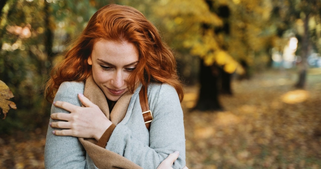
M44 84L111 3L175 52L190 169L321 168L320 0L0 0L0 80L17 107L0 120L0 168L44 168Z

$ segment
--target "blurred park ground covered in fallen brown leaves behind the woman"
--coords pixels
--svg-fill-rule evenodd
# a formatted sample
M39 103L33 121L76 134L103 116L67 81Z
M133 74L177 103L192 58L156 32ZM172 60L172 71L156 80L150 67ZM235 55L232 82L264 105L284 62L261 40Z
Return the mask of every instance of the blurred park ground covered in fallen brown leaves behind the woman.
M187 166L321 168L321 70L309 71L306 90L293 88L296 79L291 72L267 71L235 80L234 95L220 96L221 112L190 111L198 87L186 87ZM0 168L44 168L46 131L15 133L0 136Z

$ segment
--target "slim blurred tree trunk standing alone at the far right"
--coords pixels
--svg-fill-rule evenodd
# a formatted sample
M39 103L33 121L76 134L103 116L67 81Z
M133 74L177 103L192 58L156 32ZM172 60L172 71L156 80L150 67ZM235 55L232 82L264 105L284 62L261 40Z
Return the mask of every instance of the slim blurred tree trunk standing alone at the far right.
M304 88L306 84L306 76L307 76L307 69L308 69L308 47L309 47L309 14L306 14L305 20L304 20L304 35L302 37L302 61L299 63L299 79L297 84L295 85L297 88Z

